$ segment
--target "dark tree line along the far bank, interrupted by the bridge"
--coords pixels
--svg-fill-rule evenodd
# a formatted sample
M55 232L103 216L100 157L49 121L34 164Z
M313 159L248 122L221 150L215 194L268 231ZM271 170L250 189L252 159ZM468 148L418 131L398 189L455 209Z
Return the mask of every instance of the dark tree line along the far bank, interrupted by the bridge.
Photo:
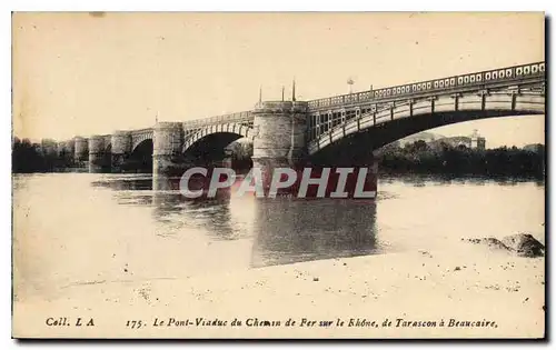
M228 147L235 169L252 167L252 143L234 142ZM431 147L415 141L405 147L389 144L378 150L379 171L387 173L451 173L481 176L535 176L545 173L545 147L535 150L500 147L470 149L440 142ZM12 171L49 172L76 167L73 154L58 152L56 143L38 144L13 139Z

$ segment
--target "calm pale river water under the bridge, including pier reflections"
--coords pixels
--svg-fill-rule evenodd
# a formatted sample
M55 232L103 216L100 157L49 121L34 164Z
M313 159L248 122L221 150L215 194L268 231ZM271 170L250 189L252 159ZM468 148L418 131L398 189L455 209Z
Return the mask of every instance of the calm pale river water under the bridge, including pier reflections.
M544 242L543 182L383 177L361 200L186 200L149 174L14 176L18 298L77 281L186 278L529 232Z

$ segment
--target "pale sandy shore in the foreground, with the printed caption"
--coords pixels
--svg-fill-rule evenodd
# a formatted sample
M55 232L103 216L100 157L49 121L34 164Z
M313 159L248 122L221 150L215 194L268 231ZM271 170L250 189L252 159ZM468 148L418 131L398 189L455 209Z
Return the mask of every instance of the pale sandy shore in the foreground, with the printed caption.
M544 268L544 258L520 258L463 242L449 251L406 251L180 279L80 281L60 287L48 301L17 300L14 336L538 338L545 329ZM79 317L93 318L95 327L49 327L49 317L66 317L70 323ZM232 326L235 319L241 326ZM256 327L255 319L275 326ZM287 326L289 319L296 323ZM350 319L364 326L348 327ZM489 323L458 327L451 321L449 327L450 319ZM126 327L128 320L140 320L141 327ZM185 326L186 320L193 324ZM220 326L195 326L215 320ZM320 327L320 321L331 324Z

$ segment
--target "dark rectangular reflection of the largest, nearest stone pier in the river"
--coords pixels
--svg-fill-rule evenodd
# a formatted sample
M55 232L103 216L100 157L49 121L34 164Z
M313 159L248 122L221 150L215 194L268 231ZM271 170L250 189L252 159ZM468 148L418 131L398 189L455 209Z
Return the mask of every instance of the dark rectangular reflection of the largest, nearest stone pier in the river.
M377 253L376 202L258 200L251 266Z

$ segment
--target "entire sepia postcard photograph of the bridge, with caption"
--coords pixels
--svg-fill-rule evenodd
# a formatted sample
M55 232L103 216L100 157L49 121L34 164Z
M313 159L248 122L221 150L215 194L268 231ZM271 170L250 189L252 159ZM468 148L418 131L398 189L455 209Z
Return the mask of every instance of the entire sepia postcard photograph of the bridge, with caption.
M546 339L544 12L12 12L16 339Z

